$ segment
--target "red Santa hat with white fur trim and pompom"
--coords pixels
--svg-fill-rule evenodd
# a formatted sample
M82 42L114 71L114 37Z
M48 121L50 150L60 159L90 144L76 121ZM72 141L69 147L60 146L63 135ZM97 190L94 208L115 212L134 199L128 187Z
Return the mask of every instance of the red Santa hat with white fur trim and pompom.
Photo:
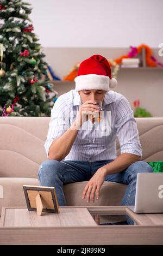
M93 55L80 63L78 75L74 79L75 90L104 90L117 86L117 80L111 78L111 68L106 58L101 55Z

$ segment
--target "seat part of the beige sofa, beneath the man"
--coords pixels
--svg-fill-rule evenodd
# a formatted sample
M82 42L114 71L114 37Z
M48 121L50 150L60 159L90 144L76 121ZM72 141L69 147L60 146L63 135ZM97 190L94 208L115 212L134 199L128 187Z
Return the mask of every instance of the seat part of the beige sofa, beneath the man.
M83 189L87 182L76 182L64 186L67 206L85 205L121 205L126 185L115 182L104 182L99 200L95 203L86 203L82 200ZM0 215L2 206L27 206L24 197L23 185L39 186L37 178L0 178L1 188L3 188L3 198L0 200Z

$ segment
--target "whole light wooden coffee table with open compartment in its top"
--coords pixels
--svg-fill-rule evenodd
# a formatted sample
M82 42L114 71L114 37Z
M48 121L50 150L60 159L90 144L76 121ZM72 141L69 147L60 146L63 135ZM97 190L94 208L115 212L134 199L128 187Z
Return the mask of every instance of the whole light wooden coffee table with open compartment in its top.
M0 245L163 245L160 213L137 215L127 206L65 206L60 211L37 216L27 207L3 207ZM134 225L98 225L93 218L126 215Z

